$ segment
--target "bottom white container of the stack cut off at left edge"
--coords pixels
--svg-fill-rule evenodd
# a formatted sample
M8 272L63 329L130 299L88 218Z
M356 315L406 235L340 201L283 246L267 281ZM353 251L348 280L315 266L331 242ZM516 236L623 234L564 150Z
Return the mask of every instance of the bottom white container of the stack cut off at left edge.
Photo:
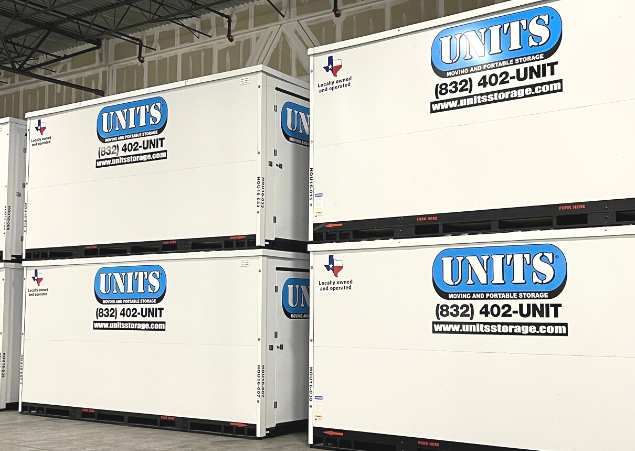
M0 410L18 405L22 286L22 266L0 262Z

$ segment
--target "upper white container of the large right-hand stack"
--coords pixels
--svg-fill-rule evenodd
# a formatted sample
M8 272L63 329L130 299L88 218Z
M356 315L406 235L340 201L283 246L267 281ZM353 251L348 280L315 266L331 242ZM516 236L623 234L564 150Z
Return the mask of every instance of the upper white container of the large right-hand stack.
M313 239L632 221L634 15L515 0L310 50Z

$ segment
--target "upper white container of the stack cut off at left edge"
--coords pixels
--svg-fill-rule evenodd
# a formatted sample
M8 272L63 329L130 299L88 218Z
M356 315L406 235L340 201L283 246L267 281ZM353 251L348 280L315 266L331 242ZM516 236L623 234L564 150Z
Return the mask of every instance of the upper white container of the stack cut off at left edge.
M0 196L5 200L0 260L22 258L26 122L0 119Z

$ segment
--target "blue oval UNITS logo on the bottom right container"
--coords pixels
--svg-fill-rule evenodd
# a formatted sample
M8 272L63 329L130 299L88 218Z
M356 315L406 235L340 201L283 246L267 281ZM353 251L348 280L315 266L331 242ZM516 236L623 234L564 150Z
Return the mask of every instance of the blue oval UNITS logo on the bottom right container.
M444 299L552 299L567 281L567 261L552 244L446 249L432 265Z

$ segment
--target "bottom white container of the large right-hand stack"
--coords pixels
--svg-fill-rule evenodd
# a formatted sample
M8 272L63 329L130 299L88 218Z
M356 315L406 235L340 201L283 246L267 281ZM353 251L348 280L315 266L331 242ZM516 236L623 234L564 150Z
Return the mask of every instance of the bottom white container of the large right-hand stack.
M631 448L635 226L309 248L315 447Z

